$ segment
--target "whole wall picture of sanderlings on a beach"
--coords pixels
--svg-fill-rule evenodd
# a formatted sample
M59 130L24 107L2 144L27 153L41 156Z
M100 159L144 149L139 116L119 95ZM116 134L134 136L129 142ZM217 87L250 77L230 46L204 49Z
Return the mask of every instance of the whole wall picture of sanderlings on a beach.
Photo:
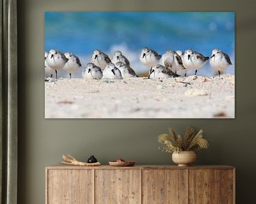
M235 118L235 13L46 12L45 118Z

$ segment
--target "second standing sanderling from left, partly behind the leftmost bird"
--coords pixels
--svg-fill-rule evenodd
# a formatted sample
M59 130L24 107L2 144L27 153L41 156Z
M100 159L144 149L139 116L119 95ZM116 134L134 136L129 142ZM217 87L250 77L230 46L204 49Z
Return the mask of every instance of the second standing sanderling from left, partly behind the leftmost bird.
M68 58L68 62L65 64L63 69L67 71L70 74L70 79L71 79L71 74L78 72L78 69L82 66L79 57L73 55L70 52L65 52L65 57Z

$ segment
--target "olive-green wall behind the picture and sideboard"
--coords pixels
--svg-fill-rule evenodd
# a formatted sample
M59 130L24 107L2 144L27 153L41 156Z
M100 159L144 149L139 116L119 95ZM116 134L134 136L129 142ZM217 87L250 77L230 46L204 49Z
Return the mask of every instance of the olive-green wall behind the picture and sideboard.
M238 2L238 1L236 1ZM168 126L202 128L212 139L197 164L237 168L237 203L255 203L256 15L253 1L18 1L18 203L45 202L45 166L63 153L103 164L122 157L137 164L171 164L156 136ZM235 11L235 119L46 120L44 119L44 11Z

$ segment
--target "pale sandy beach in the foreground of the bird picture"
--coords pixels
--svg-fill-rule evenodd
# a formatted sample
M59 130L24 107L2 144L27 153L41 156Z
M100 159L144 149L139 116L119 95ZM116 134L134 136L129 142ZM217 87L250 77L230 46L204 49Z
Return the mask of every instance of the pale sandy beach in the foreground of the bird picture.
M46 118L235 118L235 76L51 79Z

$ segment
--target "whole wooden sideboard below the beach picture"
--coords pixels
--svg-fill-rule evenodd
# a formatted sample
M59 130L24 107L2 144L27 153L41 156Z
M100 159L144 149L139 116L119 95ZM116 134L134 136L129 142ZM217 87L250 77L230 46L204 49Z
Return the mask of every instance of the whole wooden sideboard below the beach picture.
M234 204L233 166L46 167L46 204Z

